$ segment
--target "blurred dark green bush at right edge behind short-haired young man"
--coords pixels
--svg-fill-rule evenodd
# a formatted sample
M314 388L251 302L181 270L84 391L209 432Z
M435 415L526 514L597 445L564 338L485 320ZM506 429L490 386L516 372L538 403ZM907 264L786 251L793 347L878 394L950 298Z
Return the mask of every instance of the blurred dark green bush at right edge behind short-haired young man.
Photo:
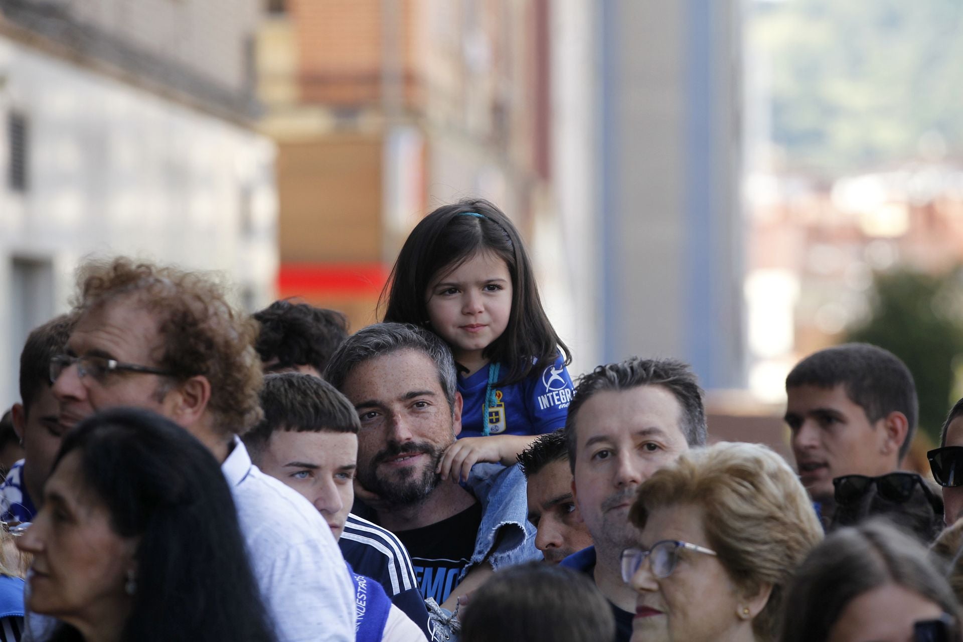
M846 337L885 347L903 360L916 380L920 428L934 439L955 400L953 368L963 355L961 273L877 273L870 318Z

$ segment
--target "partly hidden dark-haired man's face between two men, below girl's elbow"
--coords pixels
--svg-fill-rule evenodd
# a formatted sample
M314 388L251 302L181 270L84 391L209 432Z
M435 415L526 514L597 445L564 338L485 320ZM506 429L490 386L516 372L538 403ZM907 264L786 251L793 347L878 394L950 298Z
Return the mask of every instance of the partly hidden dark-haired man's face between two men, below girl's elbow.
M558 564L573 552L592 545L592 535L572 496L565 429L536 439L518 455L528 480L529 522L535 527L535 548L545 561Z

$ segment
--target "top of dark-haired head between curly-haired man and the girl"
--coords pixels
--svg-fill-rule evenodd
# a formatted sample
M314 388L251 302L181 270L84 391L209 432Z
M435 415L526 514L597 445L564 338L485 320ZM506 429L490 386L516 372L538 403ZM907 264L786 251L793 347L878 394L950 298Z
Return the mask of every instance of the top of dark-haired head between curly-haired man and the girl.
M307 303L274 301L253 317L261 325L254 348L265 373L294 371L321 376L334 350L348 338L344 314Z

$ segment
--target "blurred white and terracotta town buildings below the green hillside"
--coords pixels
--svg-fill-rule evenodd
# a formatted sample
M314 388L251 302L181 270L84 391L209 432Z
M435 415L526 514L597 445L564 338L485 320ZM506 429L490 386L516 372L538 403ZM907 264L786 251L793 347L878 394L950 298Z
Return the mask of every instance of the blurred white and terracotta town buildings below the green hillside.
M800 358L870 312L874 272L963 265L963 168L916 161L834 181L758 171L749 180L752 389L779 399Z

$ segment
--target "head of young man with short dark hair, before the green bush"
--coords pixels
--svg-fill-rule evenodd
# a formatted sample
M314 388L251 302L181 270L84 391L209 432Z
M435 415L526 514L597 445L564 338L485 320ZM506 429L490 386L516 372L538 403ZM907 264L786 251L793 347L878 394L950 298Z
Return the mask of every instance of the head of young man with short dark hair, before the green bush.
M834 478L898 471L916 429L913 375L892 352L845 344L800 361L786 377L786 393L799 479L828 524Z

